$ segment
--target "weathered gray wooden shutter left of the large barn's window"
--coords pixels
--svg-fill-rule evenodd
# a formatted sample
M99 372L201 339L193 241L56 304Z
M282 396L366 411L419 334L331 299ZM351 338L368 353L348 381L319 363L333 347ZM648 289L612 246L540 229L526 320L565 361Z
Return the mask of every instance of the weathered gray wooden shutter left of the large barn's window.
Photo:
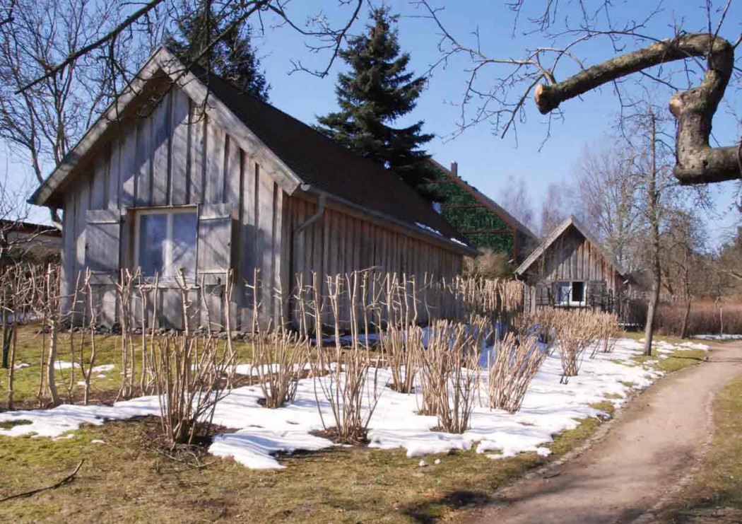
M85 265L91 273L118 274L120 238L118 209L90 209L85 213Z

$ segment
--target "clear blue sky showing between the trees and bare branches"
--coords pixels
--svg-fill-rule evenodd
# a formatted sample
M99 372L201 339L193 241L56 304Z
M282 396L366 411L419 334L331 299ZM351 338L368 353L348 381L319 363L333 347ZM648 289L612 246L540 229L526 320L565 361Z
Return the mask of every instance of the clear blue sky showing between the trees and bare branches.
M542 34L522 36L522 30L530 28L525 23L519 25L513 36L513 12L504 1L439 1L446 4L440 16L447 29L460 39L472 42L470 33L479 27L482 50L490 56L518 58L526 48L549 43ZM401 14L401 47L412 56L411 68L424 73L439 58L437 27L430 20L417 18L422 12L409 1L387 1L387 4L394 12ZM576 2L563 2L560 16L576 16L573 4ZM649 4L653 2L614 1L614 16L643 19ZM706 13L701 6L700 0L666 2L666 6L644 32L661 38L672 36L672 24L680 22L686 30L703 29ZM338 7L335 0L289 4L289 13L294 13L298 22L304 19L303 14L298 13L302 9L306 10L306 16L318 13L321 9L330 20L339 20L348 12L348 7ZM742 20L742 8L736 6L732 9L721 35L736 39L741 30L739 21ZM366 11L364 9L364 16ZM524 18L522 16L521 20ZM304 122L314 123L316 115L326 114L336 108L335 79L342 65L336 63L333 71L324 79L303 72L289 74L292 60L301 60L309 67L324 68L328 55L312 53L306 48L306 39L301 35L287 27L275 28L271 24L272 21L266 19L264 36L255 39L266 76L272 85L271 102ZM361 21L355 25L354 32L362 27ZM614 56L607 42L600 41L591 42L578 52L586 65ZM425 131L436 134L436 139L428 146L436 160L444 165L458 162L459 174L495 199L510 177L524 180L533 207L539 209L549 183L562 183L574 178L576 162L583 148L606 144L606 137L619 110L617 98L610 88L604 88L584 96L582 100L565 102L562 105L565 120L552 124L551 137L545 142L548 130L546 119L537 113L532 102L528 104L526 121L518 125L517 143L514 134L509 134L505 139L493 135L491 126L486 122L450 140L446 137L456 129L460 111L456 102L464 93L467 79L465 69L469 66L470 63L465 60L455 60L447 68L433 71L427 91L419 99L418 107L410 118L424 120ZM563 70L562 77L571 72L570 69ZM485 80L486 75L494 78L496 74L494 70L485 70ZM730 93L727 100L737 106L742 102L735 93ZM721 115L715 120L715 137L719 143L735 143L739 140L739 134L735 119ZM4 163L1 156L0 162ZM23 171L21 164L10 163L11 178L20 180ZM736 211L724 213L733 203L737 188L737 183L723 183L712 188L712 197L717 204L716 212L707 217L712 243L717 242L735 220L739 220ZM37 216L43 217L43 214Z

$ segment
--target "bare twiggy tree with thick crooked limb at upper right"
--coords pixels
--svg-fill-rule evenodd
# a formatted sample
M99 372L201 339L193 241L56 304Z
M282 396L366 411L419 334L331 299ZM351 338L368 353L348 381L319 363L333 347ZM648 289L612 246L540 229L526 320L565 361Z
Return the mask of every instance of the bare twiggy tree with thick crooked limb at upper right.
M513 33L519 23L529 24L525 33L540 36L544 42L515 57L487 53L478 30L467 41L460 39L444 24L442 7L434 7L428 0L416 4L439 30L441 58L433 67L446 65L454 56L465 57L472 64L467 69L459 131L486 121L504 136L522 122L531 96L538 110L550 115L551 122L551 114L562 102L604 85L613 89L622 107L631 107L634 102L626 98L631 91L627 86L634 85L626 82L631 77L669 97L670 111L677 120L674 176L680 183L740 178L740 147L712 147L709 142L712 119L730 79L740 71L735 50L742 36L731 22L725 24L731 0L706 1L706 19L701 24L697 19L680 18L673 10L666 24L669 35L647 33L650 22L666 13L660 1L643 6L645 16L636 16L633 11L629 16L620 12L623 6L605 0L578 4L514 1L510 4L516 13ZM691 24L695 25L684 27ZM726 39L723 33L729 31L732 36ZM587 67L584 56L600 42L607 43L615 56ZM569 76L557 80L563 72Z

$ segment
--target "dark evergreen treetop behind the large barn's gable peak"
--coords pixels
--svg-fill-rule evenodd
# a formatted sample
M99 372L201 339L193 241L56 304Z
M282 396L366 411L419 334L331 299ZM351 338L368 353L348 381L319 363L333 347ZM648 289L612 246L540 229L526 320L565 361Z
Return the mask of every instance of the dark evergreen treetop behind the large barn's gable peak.
M204 52L230 24L232 20L214 13L211 1L198 0L195 6L184 1L183 15L175 22L177 36L168 35L165 45L185 64L196 62L240 90L267 101L270 85L265 72L260 71L260 59L252 47L249 24L243 22L231 27L219 42Z

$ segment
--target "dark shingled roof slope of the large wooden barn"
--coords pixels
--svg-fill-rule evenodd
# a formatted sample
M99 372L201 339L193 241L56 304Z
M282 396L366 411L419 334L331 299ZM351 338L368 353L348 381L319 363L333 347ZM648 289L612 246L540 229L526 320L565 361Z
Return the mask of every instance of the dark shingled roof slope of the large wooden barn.
M456 239L469 245L461 233L393 171L349 151L255 96L243 93L225 79L194 73L208 83L211 94L227 105L304 183L410 226L423 224L440 232L444 240Z

